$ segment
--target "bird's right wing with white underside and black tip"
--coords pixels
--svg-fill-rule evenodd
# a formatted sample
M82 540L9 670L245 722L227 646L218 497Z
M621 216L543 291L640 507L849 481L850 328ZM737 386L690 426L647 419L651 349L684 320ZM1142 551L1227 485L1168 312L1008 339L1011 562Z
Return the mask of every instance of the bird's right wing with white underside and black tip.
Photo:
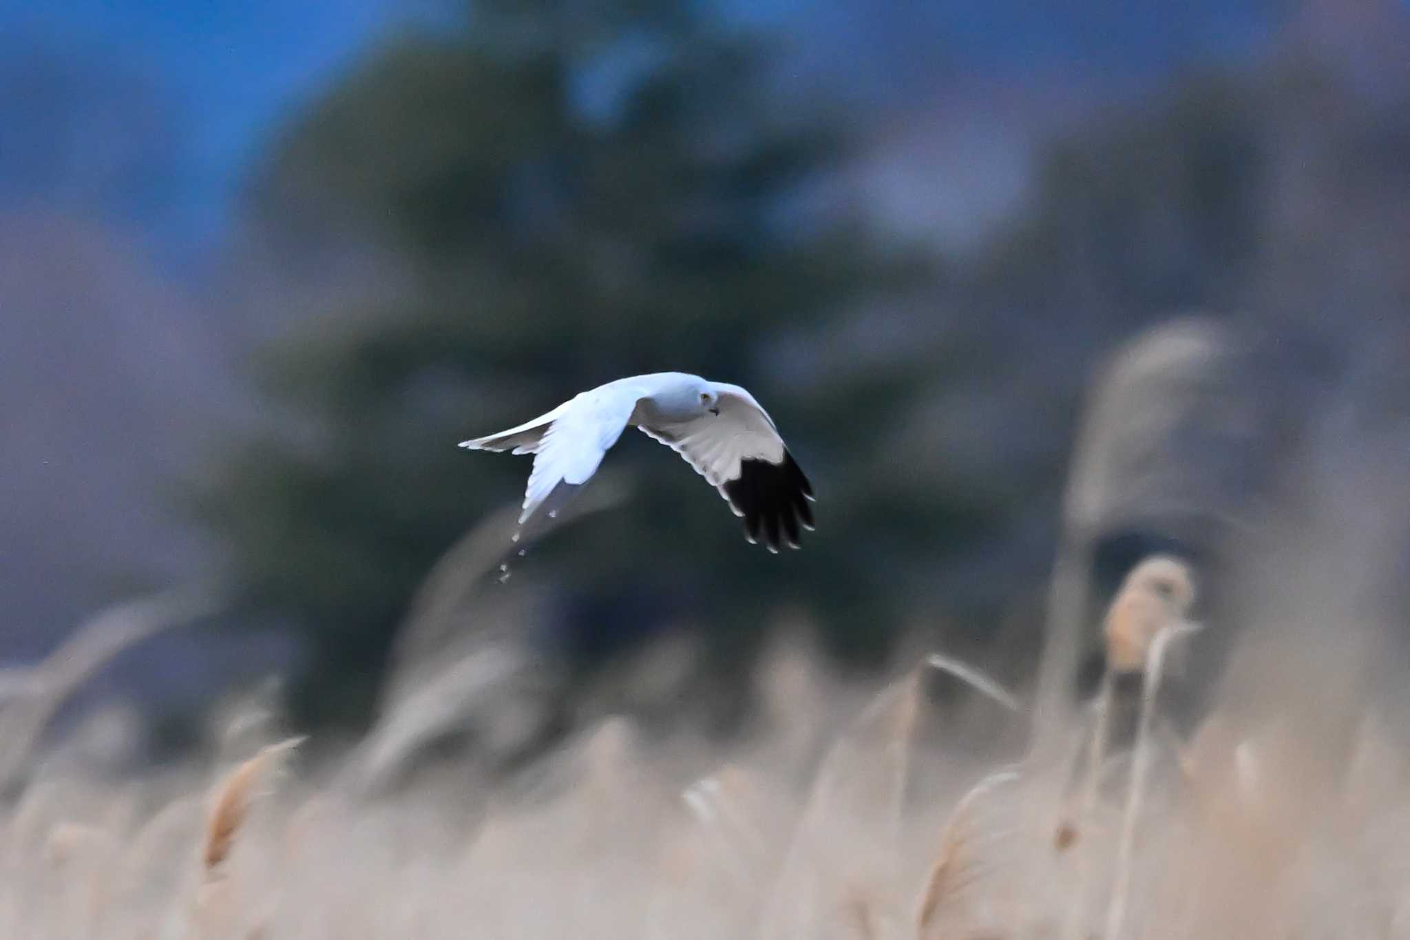
M750 543L768 551L797 548L801 530L812 530L812 483L778 437L778 428L754 396L737 385L715 383L719 414L677 424L639 426L685 458L736 516Z

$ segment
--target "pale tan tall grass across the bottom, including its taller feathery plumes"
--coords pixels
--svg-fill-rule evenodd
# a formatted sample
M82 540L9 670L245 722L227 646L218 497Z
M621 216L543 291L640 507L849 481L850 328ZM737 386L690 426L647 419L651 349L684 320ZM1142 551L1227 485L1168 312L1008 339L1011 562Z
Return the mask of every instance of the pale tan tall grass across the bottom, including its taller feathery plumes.
M259 702L227 716L238 733L217 730L210 757L114 778L45 760L49 717L106 658L204 605L117 607L0 676L0 937L1410 937L1410 689L1386 665L1403 610L1375 576L1396 544L1371 524L1382 513L1349 530L1328 521L1347 517L1338 503L1266 530L1266 551L1225 572L1238 603L1218 623L1184 619L1193 582L1172 559L1138 565L1105 617L1091 610L1105 521L1207 496L1151 458L1162 428L1201 420L1221 344L1201 321L1156 331L1094 396L1028 689L943 651L862 686L783 643L754 676L757 726L728 741L653 740L602 707L516 772L471 751L412 774L467 716L481 741L522 724L485 715L513 712L506 692L539 664L468 629L465 599L502 544L491 520L417 595L365 740L300 760ZM1311 489L1376 510L1375 488L1349 479L1337 466ZM447 636L474 640L446 654ZM1098 637L1111 668L1079 707L1066 689ZM1221 676L1167 668L1213 641ZM646 655L651 682L618 685L675 700L661 676L682 655ZM1160 693L1191 678L1210 691L1177 734Z

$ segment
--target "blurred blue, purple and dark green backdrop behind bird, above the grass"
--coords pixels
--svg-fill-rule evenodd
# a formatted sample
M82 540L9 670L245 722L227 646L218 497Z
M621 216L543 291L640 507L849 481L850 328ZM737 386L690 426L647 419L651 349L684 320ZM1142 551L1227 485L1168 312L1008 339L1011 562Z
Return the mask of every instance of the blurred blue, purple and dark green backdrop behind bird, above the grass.
M780 636L1025 682L1074 521L1110 589L1213 567L1311 440L1403 469L1407 49L1399 0L4 0L0 662L203 585L75 707L173 746L282 676L360 733L492 650L508 754L585 709L728 733ZM1144 445L1159 499L1065 514L1142 341L1200 417ZM804 551L627 435L481 571L529 462L455 444L664 369L770 409Z

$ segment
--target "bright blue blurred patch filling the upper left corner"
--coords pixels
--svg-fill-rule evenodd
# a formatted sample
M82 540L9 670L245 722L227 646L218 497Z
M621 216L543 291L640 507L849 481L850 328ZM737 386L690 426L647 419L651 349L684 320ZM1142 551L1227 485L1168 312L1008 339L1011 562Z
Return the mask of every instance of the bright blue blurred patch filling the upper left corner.
M162 180L118 203L128 221L151 230L155 248L175 247L183 261L185 249L219 238L279 123L409 13L392 0L0 0L0 35L59 59L55 68L109 73L166 116L172 158ZM110 90L78 83L78 94L99 100ZM79 114L94 107L103 106L79 107ZM11 132L23 134L14 124ZM38 147L45 152L56 144Z

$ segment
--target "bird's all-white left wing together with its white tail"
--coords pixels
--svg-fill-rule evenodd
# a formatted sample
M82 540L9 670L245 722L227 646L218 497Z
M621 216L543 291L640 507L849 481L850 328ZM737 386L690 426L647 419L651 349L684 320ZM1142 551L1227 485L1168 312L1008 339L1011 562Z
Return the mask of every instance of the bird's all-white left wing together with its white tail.
M468 450L508 450L533 454L519 524L546 509L556 514L588 482L632 417L639 396L629 389L602 386L564 402L553 412L516 428L464 441Z

